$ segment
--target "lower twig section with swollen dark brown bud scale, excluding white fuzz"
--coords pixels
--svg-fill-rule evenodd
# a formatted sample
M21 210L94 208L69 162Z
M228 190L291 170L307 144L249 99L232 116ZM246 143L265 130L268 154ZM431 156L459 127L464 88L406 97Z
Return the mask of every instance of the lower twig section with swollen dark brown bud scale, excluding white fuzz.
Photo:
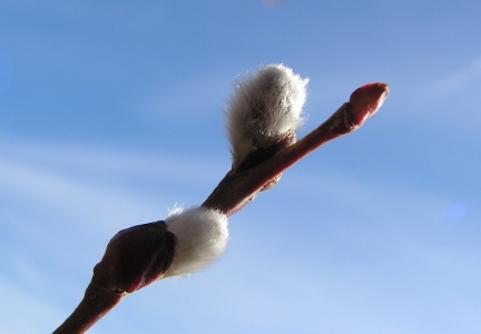
M117 233L95 266L84 299L53 333L85 333L127 294L160 279L173 263L175 244L163 220Z

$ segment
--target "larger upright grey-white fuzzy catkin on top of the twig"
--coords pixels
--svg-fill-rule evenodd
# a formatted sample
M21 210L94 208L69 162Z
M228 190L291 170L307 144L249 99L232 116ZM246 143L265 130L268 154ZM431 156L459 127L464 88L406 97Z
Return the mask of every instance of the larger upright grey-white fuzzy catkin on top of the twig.
M234 168L302 124L307 82L283 65L268 65L237 81L226 110Z

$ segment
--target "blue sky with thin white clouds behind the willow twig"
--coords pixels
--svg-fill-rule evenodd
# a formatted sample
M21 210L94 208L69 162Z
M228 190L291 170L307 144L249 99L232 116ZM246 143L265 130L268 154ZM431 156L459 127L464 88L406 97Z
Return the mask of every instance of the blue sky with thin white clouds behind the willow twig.
M194 3L193 3L194 2ZM238 75L310 78L300 137L357 87L357 131L229 219L207 271L90 333L480 333L481 3L1 1L0 333L49 333L111 236L229 169Z

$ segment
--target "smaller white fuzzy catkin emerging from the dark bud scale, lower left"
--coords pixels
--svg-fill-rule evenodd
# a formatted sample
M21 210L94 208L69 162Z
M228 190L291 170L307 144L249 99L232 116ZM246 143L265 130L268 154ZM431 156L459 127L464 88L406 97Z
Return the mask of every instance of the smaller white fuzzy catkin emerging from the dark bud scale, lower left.
M204 207L175 207L165 219L177 237L174 263L164 277L198 272L220 256L228 240L227 216Z

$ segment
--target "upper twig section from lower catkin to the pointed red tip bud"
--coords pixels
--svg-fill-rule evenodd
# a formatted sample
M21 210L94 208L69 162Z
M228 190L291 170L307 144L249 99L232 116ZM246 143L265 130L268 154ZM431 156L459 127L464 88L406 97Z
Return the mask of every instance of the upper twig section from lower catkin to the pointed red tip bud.
M230 216L255 198L264 185L285 169L340 136L359 129L374 115L389 95L385 84L370 84L356 89L350 101L342 105L325 122L297 143L247 170L230 170L214 189L203 206Z

